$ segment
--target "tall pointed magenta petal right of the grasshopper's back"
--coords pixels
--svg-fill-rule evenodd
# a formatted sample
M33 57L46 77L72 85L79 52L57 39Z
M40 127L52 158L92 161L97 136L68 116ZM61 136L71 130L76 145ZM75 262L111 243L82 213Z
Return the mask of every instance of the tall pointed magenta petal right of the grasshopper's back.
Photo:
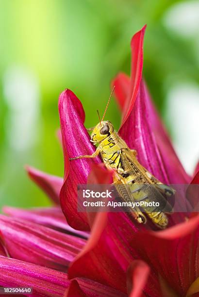
M118 81L119 78L123 79L119 76L116 80ZM124 83L120 83L120 87L122 85ZM137 150L137 158L141 165L160 181L166 184L186 184L190 181L171 145L143 81L140 83L133 110L119 130L119 134L130 148ZM177 211L182 203L186 205L184 195L181 198L176 195ZM170 224L178 223L183 219L184 214L174 213L169 222Z

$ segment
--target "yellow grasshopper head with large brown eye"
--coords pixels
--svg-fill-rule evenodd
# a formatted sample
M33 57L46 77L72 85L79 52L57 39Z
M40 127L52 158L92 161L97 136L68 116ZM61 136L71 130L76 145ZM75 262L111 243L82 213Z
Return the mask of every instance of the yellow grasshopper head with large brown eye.
M114 131L113 125L109 121L101 121L95 126L91 134L91 142L98 143L108 137Z

